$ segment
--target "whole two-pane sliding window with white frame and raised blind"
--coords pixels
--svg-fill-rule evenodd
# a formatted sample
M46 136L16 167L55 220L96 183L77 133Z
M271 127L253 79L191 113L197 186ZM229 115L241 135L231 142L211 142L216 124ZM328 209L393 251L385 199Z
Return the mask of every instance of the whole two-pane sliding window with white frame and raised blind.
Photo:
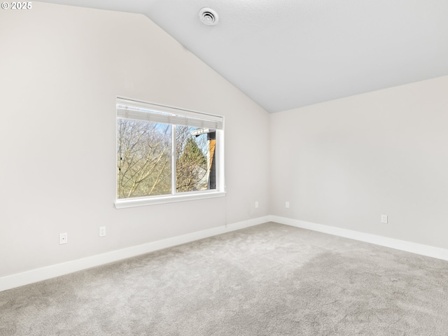
M223 196L223 163L223 117L117 98L117 208Z

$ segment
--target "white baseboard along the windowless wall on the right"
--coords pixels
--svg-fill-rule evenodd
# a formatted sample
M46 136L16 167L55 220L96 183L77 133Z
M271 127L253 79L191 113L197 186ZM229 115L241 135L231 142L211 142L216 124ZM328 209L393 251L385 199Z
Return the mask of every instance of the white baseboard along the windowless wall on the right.
M448 260L448 250L445 248L417 244L412 243L410 241L381 237L377 235L371 235L369 233L352 231L342 228L335 228L333 226L310 223L306 221L299 221L297 219L285 218L280 216L270 216L270 218L272 222L294 226L295 228L302 228L317 232L328 233L329 235L335 235L339 237L365 241L371 244L395 248L396 250L416 253L420 255L426 255L428 257L442 260Z

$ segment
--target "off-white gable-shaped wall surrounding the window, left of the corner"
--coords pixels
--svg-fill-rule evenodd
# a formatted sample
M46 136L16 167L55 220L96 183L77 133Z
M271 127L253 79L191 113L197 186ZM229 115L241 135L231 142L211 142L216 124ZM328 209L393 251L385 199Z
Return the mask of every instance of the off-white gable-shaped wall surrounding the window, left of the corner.
M0 50L0 277L269 214L267 112L144 15L1 10ZM227 196L115 209L117 95L225 116Z

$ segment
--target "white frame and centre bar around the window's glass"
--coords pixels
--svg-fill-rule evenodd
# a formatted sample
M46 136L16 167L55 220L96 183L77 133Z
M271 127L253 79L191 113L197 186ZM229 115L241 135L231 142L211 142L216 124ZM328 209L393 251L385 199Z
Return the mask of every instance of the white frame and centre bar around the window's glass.
M132 197L132 198L124 198L124 199L118 199L116 195L116 201L114 202L116 209L123 209L123 208L130 208L130 207L142 207L146 205L153 205L153 204L165 204L165 203L172 203L172 202L183 202L183 201L192 201L192 200L203 200L207 198L214 198L214 197L223 197L225 196L225 180L224 180L224 117L222 116L215 116L207 113L197 112L197 111L190 111L186 109L179 109L172 106L164 106L160 104L154 104L150 102L141 102L136 101L134 99L129 99L125 97L117 97L117 105L123 105L123 106L132 106L142 109L147 109L151 111L157 111L162 113L168 113L169 120L174 120L174 122L170 122L169 124L178 125L177 123L186 123L185 125L190 125L188 123L188 120L193 120L193 123L199 123L200 120L202 120L204 123L216 123L217 127L210 127L213 129L216 129L216 189L213 190L197 190L197 191L191 191L191 192L183 192L183 193L176 193L176 153L175 149L172 151L172 183L174 186L172 186L172 194L169 195L157 195L157 196L146 196L146 197ZM123 109L120 109L120 113L123 115ZM148 113L149 114L149 113ZM165 116L155 116L160 118L165 118ZM123 116L118 116L118 109L117 109L117 119L123 118ZM134 119L135 117L131 117L130 119ZM139 119L141 116L137 116L134 120L142 120ZM184 119L187 119L187 121L182 121ZM148 120L152 121L152 120ZM154 121L161 123L162 121ZM166 122L165 122L166 123ZM117 123L116 123L117 125ZM179 124L182 125L182 124ZM207 124L208 125L208 124ZM175 134L172 134L172 137L174 139ZM117 139L118 140L118 139ZM174 142L173 142L174 144ZM175 146L173 145L173 148ZM116 148L116 153L118 151L118 148ZM116 174L117 176L117 174ZM116 183L117 183L116 178ZM117 190L117 185L116 185Z

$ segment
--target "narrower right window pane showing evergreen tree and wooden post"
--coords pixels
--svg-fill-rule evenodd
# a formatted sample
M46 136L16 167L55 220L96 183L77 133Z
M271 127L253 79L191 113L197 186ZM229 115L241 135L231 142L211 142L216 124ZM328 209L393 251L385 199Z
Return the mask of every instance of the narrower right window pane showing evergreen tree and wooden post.
M176 192L216 189L216 130L176 126Z

